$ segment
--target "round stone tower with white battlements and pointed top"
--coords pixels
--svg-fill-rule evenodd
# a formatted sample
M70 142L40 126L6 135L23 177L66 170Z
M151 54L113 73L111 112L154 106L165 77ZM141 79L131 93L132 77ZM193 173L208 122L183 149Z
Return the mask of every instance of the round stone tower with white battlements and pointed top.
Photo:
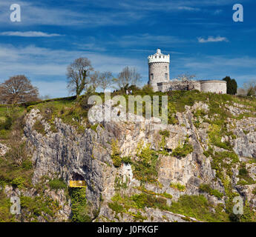
M148 84L154 91L158 90L157 83L170 81L170 55L164 55L160 49L148 56Z

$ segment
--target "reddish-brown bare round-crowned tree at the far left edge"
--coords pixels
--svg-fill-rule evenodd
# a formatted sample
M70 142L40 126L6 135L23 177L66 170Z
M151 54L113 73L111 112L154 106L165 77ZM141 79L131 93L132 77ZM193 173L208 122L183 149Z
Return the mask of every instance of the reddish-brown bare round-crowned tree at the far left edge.
M19 104L39 100L39 90L33 87L24 75L12 76L0 84L0 101L4 104Z

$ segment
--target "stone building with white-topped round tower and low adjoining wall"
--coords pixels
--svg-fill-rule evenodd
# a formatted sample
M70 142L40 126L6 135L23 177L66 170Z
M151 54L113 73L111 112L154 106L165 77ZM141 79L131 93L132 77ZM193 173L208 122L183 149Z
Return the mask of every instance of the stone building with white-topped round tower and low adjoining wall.
M148 84L154 91L200 90L203 92L226 94L226 81L219 80L170 80L170 55L164 55L160 49L148 56Z

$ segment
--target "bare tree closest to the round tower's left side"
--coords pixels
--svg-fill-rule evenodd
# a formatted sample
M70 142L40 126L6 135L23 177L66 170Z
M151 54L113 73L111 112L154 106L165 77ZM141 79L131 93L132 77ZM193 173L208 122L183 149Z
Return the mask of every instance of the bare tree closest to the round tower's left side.
M122 72L118 74L117 79L114 79L114 81L116 81L119 89L121 89L128 85L137 85L140 79L140 73L137 73L135 67L126 66Z

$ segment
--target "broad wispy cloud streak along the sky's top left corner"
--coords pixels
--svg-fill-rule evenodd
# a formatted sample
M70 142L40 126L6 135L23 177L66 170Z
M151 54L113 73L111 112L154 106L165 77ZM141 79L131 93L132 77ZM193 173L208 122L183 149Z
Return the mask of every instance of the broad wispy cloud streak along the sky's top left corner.
M12 0L0 3L0 24L11 25L10 4ZM47 2L19 1L22 9L22 21L19 26L27 25L60 25L78 27L97 27L102 25L122 25L137 21L145 17L143 13L137 14L131 10L105 11L101 8L88 10L88 3L79 1L74 4L58 5L47 4Z

